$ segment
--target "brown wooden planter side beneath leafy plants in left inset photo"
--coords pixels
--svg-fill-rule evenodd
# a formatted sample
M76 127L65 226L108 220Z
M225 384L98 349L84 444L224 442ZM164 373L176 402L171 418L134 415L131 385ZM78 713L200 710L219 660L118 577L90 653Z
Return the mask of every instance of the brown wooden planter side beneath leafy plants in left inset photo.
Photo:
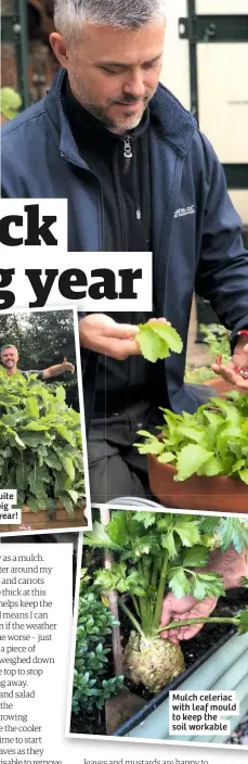
M0 525L1 533L16 533L16 531L30 530L30 531L51 531L64 527L86 527L86 508L76 507L74 510L74 518L69 518L66 509L57 502L56 513L53 520L49 520L48 510L40 509L38 512L34 512L30 507L24 505L22 507L22 529L21 525Z

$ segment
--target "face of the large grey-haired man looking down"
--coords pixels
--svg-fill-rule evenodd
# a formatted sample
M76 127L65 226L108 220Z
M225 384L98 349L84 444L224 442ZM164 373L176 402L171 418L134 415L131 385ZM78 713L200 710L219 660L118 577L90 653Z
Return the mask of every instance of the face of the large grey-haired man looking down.
M84 24L82 40L67 47L74 96L114 132L140 124L157 89L165 30L158 22L131 30Z

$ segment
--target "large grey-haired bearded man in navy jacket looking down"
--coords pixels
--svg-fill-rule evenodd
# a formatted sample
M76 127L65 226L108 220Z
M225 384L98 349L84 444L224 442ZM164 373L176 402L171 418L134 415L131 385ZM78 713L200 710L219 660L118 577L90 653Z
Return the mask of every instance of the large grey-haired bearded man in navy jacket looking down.
M165 0L55 0L54 21L62 68L3 128L2 193L67 199L68 250L82 252L82 266L88 252L153 252L152 315L79 322L92 500L143 498L136 430L159 423L159 406L194 412L203 402L184 384L194 291L232 330L232 359L214 371L248 390L248 253L212 147L159 82ZM135 340L152 316L184 344L155 366Z

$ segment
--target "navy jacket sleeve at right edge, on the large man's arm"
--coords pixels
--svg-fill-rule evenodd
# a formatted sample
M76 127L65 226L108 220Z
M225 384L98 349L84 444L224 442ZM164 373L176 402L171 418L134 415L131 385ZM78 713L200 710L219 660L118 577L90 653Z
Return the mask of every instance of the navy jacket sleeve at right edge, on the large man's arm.
M226 189L221 163L201 136L208 183L196 292L209 300L222 323L232 330L248 327L248 252L244 247L242 220Z

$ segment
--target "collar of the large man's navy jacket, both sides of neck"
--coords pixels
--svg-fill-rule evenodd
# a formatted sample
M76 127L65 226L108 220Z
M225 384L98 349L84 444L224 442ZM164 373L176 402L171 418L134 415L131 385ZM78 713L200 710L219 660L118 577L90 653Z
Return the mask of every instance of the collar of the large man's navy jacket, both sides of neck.
M62 105L62 89L65 85L67 73L64 68L58 69L52 88L47 96L47 107L50 116L57 122L54 107L57 111L61 132L61 154L73 161L75 164L84 166L81 158L69 122ZM197 128L193 115L182 106L178 99L159 82L154 98L149 103L151 122L157 128L157 132L173 149L177 155L183 158L191 145L194 132Z

